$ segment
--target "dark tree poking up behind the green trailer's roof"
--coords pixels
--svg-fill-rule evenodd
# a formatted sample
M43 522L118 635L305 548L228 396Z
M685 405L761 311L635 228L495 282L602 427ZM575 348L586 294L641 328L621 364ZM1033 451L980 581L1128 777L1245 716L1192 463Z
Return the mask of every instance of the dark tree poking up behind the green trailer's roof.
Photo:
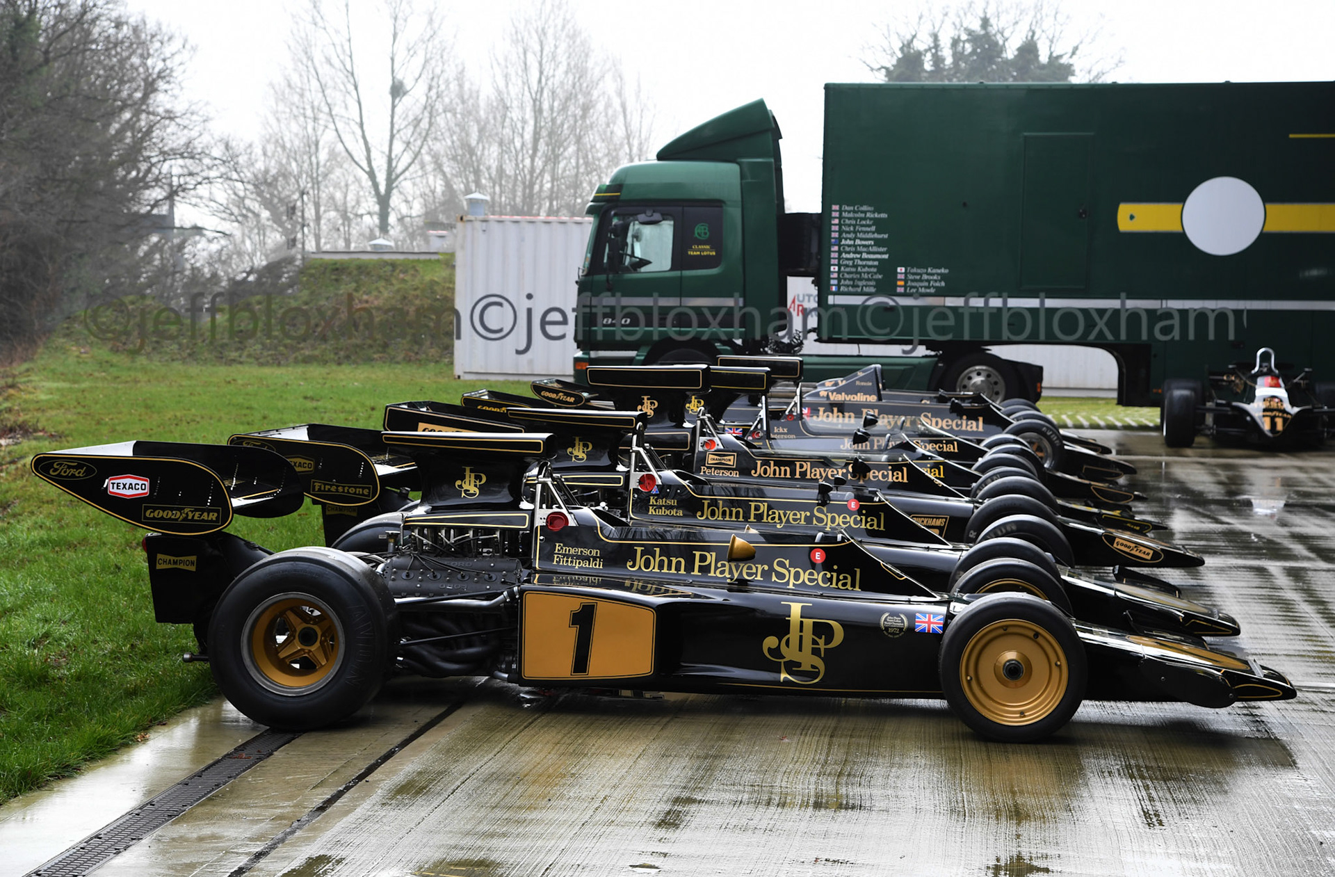
M889 83L1099 81L1120 57L1089 59L1097 31L1068 39L1060 5L984 0L940 7L934 17L886 25L866 67Z

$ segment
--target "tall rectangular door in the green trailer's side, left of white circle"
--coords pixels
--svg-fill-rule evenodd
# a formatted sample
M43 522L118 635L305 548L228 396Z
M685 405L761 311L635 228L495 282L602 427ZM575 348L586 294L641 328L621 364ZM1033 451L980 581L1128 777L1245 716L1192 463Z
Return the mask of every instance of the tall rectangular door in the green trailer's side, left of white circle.
M1083 290L1089 272L1091 133L1024 135L1020 288Z

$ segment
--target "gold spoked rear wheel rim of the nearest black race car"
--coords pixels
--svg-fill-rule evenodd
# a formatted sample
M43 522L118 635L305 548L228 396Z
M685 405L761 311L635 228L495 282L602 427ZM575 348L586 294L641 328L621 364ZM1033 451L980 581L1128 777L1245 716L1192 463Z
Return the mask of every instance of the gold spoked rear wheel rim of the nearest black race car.
M278 594L250 614L242 654L251 677L278 694L308 694L342 663L343 630L310 594Z

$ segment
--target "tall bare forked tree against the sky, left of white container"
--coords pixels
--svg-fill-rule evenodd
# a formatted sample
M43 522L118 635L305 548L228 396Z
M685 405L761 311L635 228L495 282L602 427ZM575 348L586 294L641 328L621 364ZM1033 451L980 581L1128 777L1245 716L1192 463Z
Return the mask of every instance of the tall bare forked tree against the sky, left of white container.
M379 234L390 234L394 199L431 141L439 112L449 44L429 9L384 0L388 44L386 95L376 100L354 39L348 0L331 15L312 0L296 35L299 64L314 85L315 107L343 154L366 179Z

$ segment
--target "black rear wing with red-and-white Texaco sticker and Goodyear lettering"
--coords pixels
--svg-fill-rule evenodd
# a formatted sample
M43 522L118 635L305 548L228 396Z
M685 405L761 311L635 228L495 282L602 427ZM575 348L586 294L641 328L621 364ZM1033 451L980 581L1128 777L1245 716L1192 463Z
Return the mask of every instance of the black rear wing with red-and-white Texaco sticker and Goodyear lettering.
M32 471L113 518L171 535L223 530L234 513L288 515L306 501L292 465L259 447L117 442L37 454Z

